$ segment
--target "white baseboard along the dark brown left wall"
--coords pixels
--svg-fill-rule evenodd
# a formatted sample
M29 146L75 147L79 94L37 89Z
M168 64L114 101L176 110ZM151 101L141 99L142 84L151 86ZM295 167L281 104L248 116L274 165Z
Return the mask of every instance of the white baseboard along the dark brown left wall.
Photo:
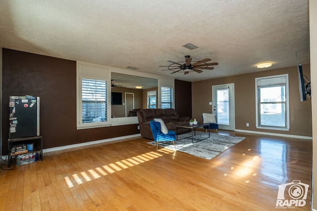
M117 141L120 139L127 139L127 138L133 138L133 137L138 137L138 136L141 136L141 134L139 133L139 134L133 134L133 135L128 135L128 136L120 136L120 137L110 138L110 139L84 142L84 143L80 143L80 144L71 144L71 145L66 145L66 146L61 146L61 147L53 147L53 148L43 149L43 153L49 153L49 152L54 152L54 151L59 151L59 150L66 150L66 149L71 149L71 148L75 148L75 147L83 147L83 146L88 146L88 145L100 144L100 143L110 142L110 141Z

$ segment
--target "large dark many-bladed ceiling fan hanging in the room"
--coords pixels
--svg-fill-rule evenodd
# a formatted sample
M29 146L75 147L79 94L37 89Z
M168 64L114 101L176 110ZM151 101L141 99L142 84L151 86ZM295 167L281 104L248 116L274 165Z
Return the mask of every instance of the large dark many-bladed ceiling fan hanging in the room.
M176 73L176 72L184 72L184 74L188 74L189 72L198 72L198 73L202 73L204 69L208 69L208 70L212 70L214 67L211 67L212 65L218 65L217 62L212 62L212 63L206 63L208 61L211 61L210 58L204 58L200 61L195 61L193 64L192 62L192 58L190 57L190 55L185 55L185 61L181 61L181 62L175 62L175 61L168 61L171 62L172 64L168 65L168 66L160 66L160 67L167 67L167 69L165 70L170 70L172 71L172 73ZM181 64L185 62L184 64ZM161 71L165 71L165 70L161 70Z

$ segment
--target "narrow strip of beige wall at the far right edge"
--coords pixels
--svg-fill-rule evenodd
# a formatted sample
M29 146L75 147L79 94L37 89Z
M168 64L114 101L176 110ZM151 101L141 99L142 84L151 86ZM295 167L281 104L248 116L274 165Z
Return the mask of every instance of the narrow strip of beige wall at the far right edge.
M310 48L312 76L312 114L313 114L313 208L317 210L317 1L309 1L310 18Z

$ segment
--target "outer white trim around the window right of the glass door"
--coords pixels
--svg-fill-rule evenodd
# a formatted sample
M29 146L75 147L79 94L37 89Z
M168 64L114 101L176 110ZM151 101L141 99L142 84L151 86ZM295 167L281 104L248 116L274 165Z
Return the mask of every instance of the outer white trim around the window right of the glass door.
M275 77L286 77L286 89L285 89L285 97L286 97L286 128L279 127L264 127L259 125L259 96L258 96L258 80L265 78L275 78ZM267 130L281 130L281 131L289 131L289 82L288 82L288 74L282 75L272 75L266 77L260 77L255 79L255 91L256 91L256 128L258 129L267 129Z

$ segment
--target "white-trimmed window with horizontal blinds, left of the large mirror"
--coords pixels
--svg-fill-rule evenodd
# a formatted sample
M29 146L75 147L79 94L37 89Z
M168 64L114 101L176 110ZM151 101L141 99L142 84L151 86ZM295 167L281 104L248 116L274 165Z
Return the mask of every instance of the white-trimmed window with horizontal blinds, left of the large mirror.
M76 63L77 129L110 126L109 68L83 61Z

